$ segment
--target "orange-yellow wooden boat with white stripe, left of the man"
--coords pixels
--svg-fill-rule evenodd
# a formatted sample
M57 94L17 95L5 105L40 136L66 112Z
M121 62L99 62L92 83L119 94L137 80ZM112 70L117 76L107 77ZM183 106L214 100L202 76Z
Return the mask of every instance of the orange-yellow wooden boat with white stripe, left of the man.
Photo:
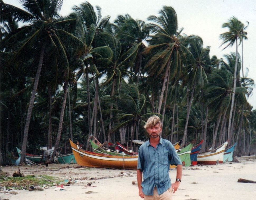
M138 156L114 156L84 151L82 149L78 149L77 146L70 139L69 142L75 156L75 160L80 166L118 169L137 168Z

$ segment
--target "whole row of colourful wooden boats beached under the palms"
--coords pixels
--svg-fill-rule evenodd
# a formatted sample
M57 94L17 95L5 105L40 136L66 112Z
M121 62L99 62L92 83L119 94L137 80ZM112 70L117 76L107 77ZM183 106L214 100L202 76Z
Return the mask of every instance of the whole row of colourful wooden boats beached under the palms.
M60 155L57 154L58 161L61 164L78 163L81 166L100 167L100 168L124 168L136 169L138 161L138 153L130 151L120 143L116 145L116 151L104 147L105 143L101 144L96 138L90 139L92 151L84 151L70 140L70 145L73 153ZM236 144L225 150L228 142L217 147L213 151L199 153L203 140L193 147L190 143L181 148L180 142L174 144L183 166L196 164L220 164L223 162L232 162L233 151ZM20 149L17 148L19 156ZM35 163L45 162L43 155L34 155L26 153L26 158ZM175 165L170 165L170 168L175 168Z

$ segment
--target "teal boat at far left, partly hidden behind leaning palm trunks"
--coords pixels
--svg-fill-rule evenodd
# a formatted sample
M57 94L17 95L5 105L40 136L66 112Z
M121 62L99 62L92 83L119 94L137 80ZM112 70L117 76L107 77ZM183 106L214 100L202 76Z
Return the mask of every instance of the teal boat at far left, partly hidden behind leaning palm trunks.
M16 149L17 149L17 152L18 152L19 157L20 157L21 156L21 150L17 147L16 147ZM33 161L34 163L45 162L45 159L44 159L43 155L38 156L38 155L26 153L26 158L29 159L30 161ZM68 154L63 154L63 155L60 155L58 153L57 158L58 158L58 162L60 164L76 163L73 153L68 153Z

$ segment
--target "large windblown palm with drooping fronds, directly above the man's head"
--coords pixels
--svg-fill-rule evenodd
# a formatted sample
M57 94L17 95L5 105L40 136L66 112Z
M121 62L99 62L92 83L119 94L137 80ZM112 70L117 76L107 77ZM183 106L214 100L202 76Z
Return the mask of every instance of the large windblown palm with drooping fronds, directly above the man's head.
M177 14L172 7L164 6L159 12L160 16L149 16L148 24L151 31L150 44L145 48L145 53L153 53L146 67L149 68L150 77L159 79L162 90L158 101L158 113L160 114L164 92L167 95L169 81L177 82L182 74L183 60L188 53L186 47L181 44L178 32ZM182 38L184 39L184 38ZM165 110L165 108L163 108ZM163 116L164 117L164 116Z

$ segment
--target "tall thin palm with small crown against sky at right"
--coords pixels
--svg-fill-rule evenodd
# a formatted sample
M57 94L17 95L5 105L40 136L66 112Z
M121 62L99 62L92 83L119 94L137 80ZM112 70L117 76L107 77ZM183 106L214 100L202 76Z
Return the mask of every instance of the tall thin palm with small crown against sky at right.
M228 46L233 46L236 44L236 61L235 61L235 70L234 70L234 86L233 86L233 94L231 100L231 109L229 114L229 126L228 126L228 140L231 139L231 120L232 114L234 110L234 101L235 101L235 88L236 88L236 72L237 72L237 65L238 65L238 40L241 43L242 38L246 37L244 34L244 24L241 23L237 18L231 17L228 22L222 24L222 28L228 28L229 31L220 34L220 38L223 40L222 45L227 44L225 48ZM239 43L239 44L240 44ZM225 49L224 48L224 49ZM230 145L230 144L229 144Z

